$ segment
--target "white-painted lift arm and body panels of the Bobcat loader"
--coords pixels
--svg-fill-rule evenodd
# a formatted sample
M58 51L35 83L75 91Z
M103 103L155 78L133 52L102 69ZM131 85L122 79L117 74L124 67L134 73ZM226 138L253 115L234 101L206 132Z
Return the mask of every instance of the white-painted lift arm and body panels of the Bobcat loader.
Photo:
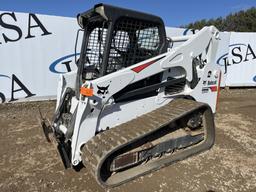
M168 76L186 78L187 82L193 79L192 62L195 57L202 54L206 60L205 66L196 67L199 82L194 89L185 85L178 95L191 96L196 101L207 103L216 110L216 100L219 89L220 70L215 64L219 33L215 27L205 27L195 35L174 38L174 41L185 41L181 46L169 49L168 52L157 57L142 61L117 72L101 78L86 81L82 87L93 90L93 96L80 95L72 98L71 113L76 111L76 121L71 139L72 164L81 161L81 147L97 132L110 129L138 116L146 114L156 108L171 102L177 95L168 95L164 89L159 88L157 96L133 102L122 102L113 105L112 96L129 84L145 79L149 76L164 72L163 82ZM144 66L146 66L144 68ZM75 89L76 71L60 76L57 104L60 103L65 89ZM98 87L108 87L104 93ZM58 108L58 105L57 105ZM66 133L62 127L63 133Z

